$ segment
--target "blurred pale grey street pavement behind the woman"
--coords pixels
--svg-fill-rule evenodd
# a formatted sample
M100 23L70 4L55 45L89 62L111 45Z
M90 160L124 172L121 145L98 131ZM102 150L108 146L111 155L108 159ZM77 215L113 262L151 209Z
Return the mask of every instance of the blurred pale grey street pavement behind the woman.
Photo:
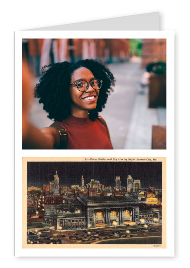
M166 125L166 108L148 108L148 89L139 94L144 69L141 63L109 64L116 85L100 115L106 120L114 149L151 149L152 125ZM38 79L34 79L34 86ZM43 105L33 100L31 123L38 128L51 125Z

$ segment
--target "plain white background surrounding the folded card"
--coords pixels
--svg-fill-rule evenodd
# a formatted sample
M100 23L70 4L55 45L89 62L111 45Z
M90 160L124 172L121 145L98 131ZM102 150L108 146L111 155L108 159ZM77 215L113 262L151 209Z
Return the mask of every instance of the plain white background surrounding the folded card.
M73 3L74 2L74 3ZM187 261L189 149L187 125L189 106L189 14L186 1L176 5L173 1L7 1L1 5L1 263L7 266L33 267L34 265L172 265ZM14 258L13 257L13 195L14 189L14 31L29 28L61 25L94 19L104 19L148 12L160 12L160 29L175 31L175 257L174 258ZM1 192L1 193L2 193ZM147 263L148 262L148 263ZM187 262L188 263L188 262ZM187 264L186 263L186 264Z

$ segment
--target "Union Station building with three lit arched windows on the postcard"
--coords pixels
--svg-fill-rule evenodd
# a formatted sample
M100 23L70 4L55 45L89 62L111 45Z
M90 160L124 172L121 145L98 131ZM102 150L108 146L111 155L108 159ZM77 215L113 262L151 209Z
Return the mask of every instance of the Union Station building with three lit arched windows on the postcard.
M44 223L69 230L160 221L161 210L140 211L139 204L133 196L78 196L70 204L45 211Z

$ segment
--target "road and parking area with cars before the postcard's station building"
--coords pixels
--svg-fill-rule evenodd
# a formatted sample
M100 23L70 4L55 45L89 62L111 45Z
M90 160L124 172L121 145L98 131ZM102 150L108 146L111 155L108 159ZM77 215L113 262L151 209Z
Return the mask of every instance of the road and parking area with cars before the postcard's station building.
M31 232L34 232L40 236L49 236L50 239L44 239L41 237L41 239L37 240L37 244L40 244L40 240L42 240L42 244L92 244L92 243L109 243L112 244L112 242L115 244L114 241L122 240L121 243L129 244L128 242L131 241L131 239L135 238L137 243L139 243L139 239L141 238L153 238L153 237L161 237L162 236L162 224L150 224L148 225L147 230L130 230L129 228L137 227L139 228L139 225L136 226L109 226L109 227L96 227L96 228L90 228L90 229L79 229L79 230L54 230L52 228L31 228L28 229ZM47 233L40 233L38 230L40 229L47 229L49 232ZM64 235L64 236L61 236ZM78 239L70 239L69 236L78 237ZM59 239L59 240L58 240ZM130 239L128 242L126 239ZM124 242L125 241L125 242ZM159 240L160 241L160 240ZM120 244L120 242L117 242ZM134 244L133 242L131 242ZM31 242L27 242L27 244L31 244ZM156 244L156 243L154 243ZM159 243L158 243L159 244Z

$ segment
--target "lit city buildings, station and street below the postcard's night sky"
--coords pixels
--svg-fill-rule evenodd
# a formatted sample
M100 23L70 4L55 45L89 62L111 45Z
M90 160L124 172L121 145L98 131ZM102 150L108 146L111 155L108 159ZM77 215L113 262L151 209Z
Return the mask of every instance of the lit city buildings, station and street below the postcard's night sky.
M122 177L116 175L115 185L102 184L101 179L90 179L85 184L84 175L80 176L80 183L60 185L60 177L56 171L54 179L42 185L43 190L35 185L28 187L27 243L139 238L151 232L149 224L161 226L161 189L143 188L143 182L127 174L125 185ZM150 203L151 198L159 202ZM35 225L37 229L32 228Z

